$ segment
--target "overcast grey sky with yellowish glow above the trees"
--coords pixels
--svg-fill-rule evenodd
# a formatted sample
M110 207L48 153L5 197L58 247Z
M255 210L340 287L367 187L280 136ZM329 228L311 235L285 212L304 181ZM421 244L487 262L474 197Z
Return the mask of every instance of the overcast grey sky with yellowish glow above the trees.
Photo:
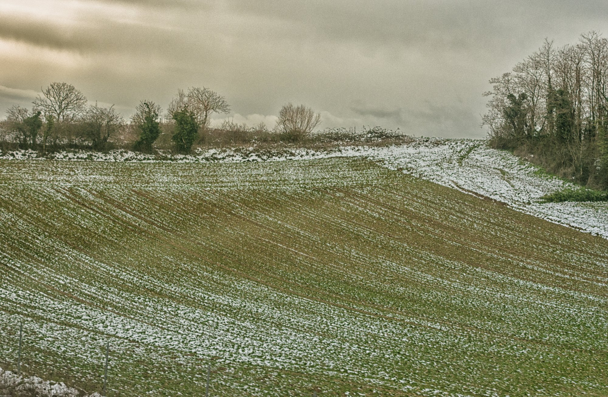
M608 35L606 4L0 0L0 115L52 81L125 117L142 99L165 107L178 88L205 86L239 123L272 125L291 101L320 112L322 127L483 137L489 78L545 37Z

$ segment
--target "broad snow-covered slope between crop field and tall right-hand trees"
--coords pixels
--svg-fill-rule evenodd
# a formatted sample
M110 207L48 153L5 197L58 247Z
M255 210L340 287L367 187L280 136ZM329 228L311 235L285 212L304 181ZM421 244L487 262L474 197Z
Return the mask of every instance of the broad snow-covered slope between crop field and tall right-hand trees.
M482 140L427 140L376 149L371 158L393 169L506 203L551 222L608 238L607 202L541 203L539 198L572 183L551 177Z

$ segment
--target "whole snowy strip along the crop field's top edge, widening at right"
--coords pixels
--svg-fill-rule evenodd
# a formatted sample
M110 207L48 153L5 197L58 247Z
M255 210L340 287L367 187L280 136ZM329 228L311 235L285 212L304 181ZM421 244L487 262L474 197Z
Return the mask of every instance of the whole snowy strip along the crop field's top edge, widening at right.
M402 146L342 146L324 151L255 147L199 150L193 155L161 152L147 155L131 151L58 152L54 160L175 161L181 163L285 161L328 157L367 157L390 169L399 169L440 185L483 195L518 211L608 239L608 203L541 203L539 198L572 183L550 177L529 163L504 151L490 149L483 140L420 138ZM13 151L0 159L40 159L35 151Z

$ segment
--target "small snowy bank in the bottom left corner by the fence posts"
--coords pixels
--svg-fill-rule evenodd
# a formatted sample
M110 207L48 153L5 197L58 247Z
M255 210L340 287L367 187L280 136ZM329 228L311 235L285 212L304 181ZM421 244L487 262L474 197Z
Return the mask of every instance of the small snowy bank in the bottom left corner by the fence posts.
M78 397L83 396L83 393L66 386L63 382L44 381L38 376L29 376L27 378L19 376L10 371L4 371L0 368L0 393L2 395L17 393L19 396L40 396L40 397ZM102 397L99 393L85 395L83 397Z

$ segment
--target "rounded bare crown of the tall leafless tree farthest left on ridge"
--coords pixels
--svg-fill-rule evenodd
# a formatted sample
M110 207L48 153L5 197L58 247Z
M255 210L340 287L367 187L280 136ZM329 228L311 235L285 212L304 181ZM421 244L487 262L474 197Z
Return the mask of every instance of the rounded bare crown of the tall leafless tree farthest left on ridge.
M45 117L52 117L60 122L71 122L85 112L86 97L72 84L55 82L50 83L33 104Z

